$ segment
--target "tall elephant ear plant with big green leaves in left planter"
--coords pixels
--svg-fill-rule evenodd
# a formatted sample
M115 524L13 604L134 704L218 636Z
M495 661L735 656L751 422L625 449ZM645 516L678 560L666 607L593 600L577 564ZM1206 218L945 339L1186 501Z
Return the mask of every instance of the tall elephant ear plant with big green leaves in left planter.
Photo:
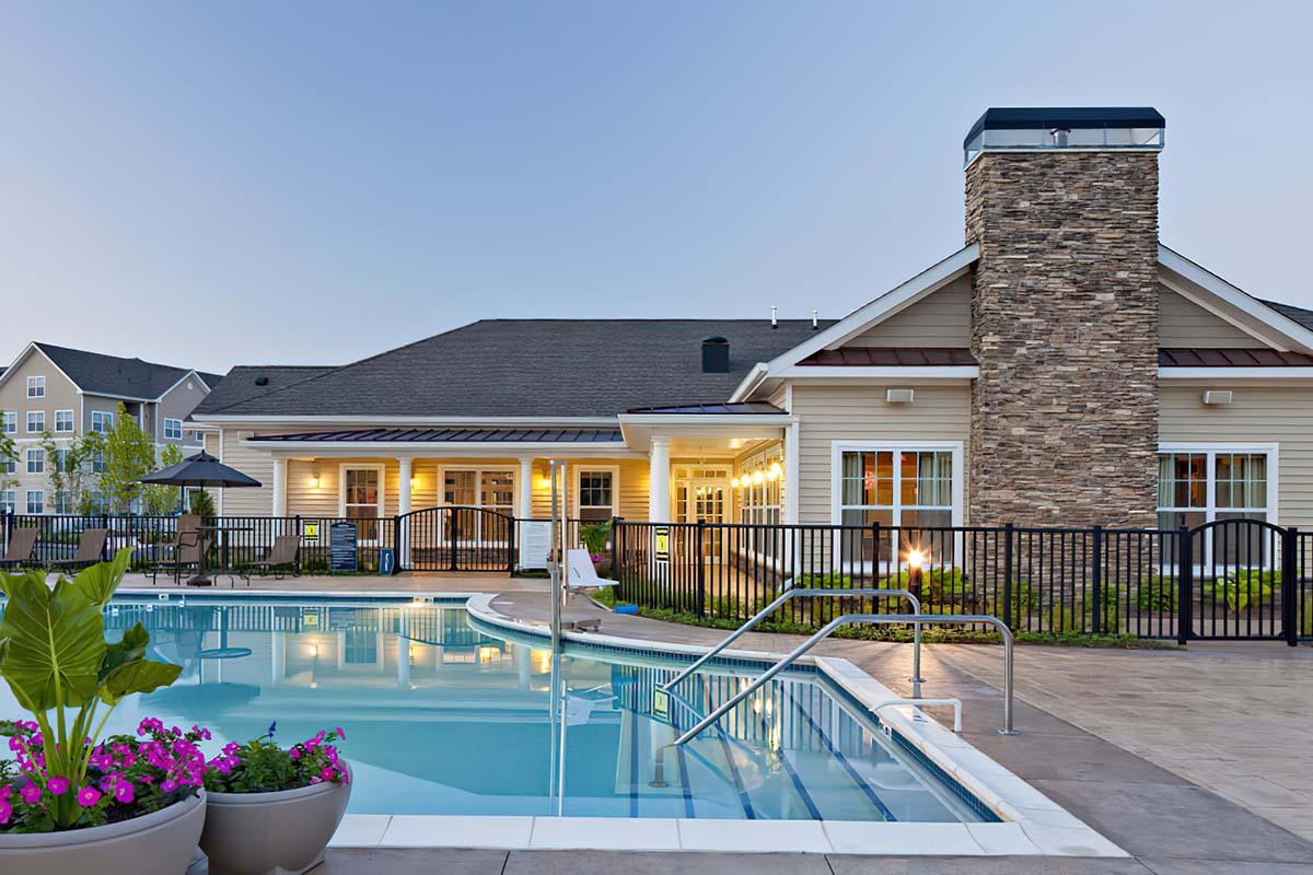
M38 774L46 787L37 790L47 791L41 804L49 829L88 825L88 799L100 796L88 766L98 766L93 761L104 756L97 739L118 703L168 686L181 672L146 659L150 634L140 623L118 641L105 640L104 609L130 559L131 550L121 550L72 580L60 577L54 588L43 572L0 575L8 597L0 621L0 676L32 714L34 725L28 727L39 732Z

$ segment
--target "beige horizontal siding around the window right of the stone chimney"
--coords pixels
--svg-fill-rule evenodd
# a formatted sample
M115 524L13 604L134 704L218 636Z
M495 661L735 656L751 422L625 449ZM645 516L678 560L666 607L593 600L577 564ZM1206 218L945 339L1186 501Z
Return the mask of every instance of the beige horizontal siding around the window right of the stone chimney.
M1278 445L1278 519L1285 526L1313 526L1313 390L1280 386L1216 386L1230 388L1226 405L1203 403L1203 386L1159 388L1158 438L1208 443Z

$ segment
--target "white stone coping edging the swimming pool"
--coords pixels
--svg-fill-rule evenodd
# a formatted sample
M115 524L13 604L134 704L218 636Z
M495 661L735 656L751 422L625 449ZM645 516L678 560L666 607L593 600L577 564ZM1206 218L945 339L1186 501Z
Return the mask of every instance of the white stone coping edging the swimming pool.
M130 588L123 596L151 593L160 601L179 596L463 602L471 619L506 631L550 638L550 630L492 607L492 592L315 592L218 588ZM565 631L580 645L638 651L651 656L687 659L706 648L603 632ZM726 649L726 660L773 662L783 653ZM852 697L871 706L897 693L846 659L806 656L800 660ZM1003 823L872 823L840 820L717 820L674 817L548 817L498 815L347 815L331 847L478 847L495 850L630 850L730 851L882 855L1046 855L1129 858L1082 820L1024 779L977 750L965 739L914 706L882 708L880 720L903 741L943 769Z

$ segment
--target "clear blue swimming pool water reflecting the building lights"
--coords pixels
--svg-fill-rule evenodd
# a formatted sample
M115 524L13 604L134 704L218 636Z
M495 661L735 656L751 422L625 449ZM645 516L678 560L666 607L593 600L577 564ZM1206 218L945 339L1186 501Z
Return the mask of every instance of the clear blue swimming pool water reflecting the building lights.
M814 672L780 676L676 748L760 666L693 676L662 714L653 691L678 662L583 647L554 660L458 603L175 596L106 614L110 636L142 622L152 656L183 665L110 732L158 716L207 727L217 749L273 722L285 745L340 725L356 813L993 819ZM16 715L0 689L0 718Z

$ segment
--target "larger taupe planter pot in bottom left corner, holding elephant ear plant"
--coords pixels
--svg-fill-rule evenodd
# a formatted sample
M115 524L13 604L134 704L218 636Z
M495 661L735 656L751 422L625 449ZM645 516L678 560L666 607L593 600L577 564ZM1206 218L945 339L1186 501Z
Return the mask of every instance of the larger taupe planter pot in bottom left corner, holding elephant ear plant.
M205 794L105 826L0 836L0 872L181 875L205 825Z

